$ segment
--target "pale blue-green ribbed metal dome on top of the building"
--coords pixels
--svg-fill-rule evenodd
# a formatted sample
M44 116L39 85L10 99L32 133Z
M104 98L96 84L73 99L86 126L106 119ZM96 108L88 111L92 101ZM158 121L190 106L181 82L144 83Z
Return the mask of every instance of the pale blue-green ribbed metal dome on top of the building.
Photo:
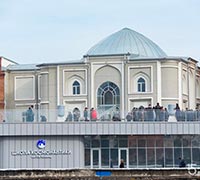
M133 54L136 57L166 57L165 52L153 41L129 28L111 34L94 45L87 55Z

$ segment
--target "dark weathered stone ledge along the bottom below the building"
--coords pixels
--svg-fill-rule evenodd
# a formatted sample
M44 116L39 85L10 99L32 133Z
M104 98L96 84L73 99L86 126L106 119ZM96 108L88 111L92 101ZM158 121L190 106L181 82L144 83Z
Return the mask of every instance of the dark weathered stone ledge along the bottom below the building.
M109 171L111 176L96 176ZM0 180L200 180L200 169L191 175L184 169L13 169L0 170Z

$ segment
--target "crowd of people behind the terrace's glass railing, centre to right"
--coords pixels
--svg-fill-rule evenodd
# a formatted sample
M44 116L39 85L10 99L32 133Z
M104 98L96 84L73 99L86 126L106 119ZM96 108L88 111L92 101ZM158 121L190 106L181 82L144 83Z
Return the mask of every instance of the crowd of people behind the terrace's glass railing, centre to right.
M200 110L181 110L178 103L174 108L175 117L177 121L200 121ZM121 114L119 108L116 108L110 114L111 117L106 118L105 115L99 117L100 120L112 120L112 121L121 121ZM169 112L167 108L164 108L159 103L154 107L151 104L148 107L140 106L139 108L133 107L131 112L128 112L125 119L126 121L168 121ZM93 121L97 120L97 110L91 108L90 110L85 107L83 111L83 117L81 117L80 110L76 107L73 112L68 112L66 121Z

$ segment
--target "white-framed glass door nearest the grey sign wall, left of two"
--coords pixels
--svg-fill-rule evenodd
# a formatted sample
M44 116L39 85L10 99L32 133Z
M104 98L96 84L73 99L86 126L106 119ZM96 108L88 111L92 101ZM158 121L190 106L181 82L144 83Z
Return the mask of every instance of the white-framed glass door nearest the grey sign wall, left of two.
M100 168L101 167L101 154L100 149L95 148L91 149L91 168Z

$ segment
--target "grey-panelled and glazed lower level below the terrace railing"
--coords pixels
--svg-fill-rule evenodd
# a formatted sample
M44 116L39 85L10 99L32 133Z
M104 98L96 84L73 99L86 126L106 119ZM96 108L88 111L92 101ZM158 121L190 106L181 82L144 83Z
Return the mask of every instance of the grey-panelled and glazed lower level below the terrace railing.
M0 169L199 167L199 134L198 122L2 123Z

